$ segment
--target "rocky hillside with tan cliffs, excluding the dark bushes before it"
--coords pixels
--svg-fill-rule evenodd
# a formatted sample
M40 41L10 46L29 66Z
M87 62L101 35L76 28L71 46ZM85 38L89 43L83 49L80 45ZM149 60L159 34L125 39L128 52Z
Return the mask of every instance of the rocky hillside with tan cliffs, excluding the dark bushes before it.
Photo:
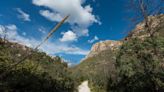
M117 78L117 64L120 59L120 54L128 55L124 57L125 61L130 58L136 58L131 57L135 52L133 53L126 53L123 49L126 47L127 50L137 50L137 47L135 44L150 44L150 46L144 45L144 48L150 48L153 49L153 46L151 47L151 43L149 40L151 39L151 33L154 34L154 38L156 40L155 44L158 46L162 46L158 51L160 55L163 51L163 37L164 37L164 15L158 15L158 16L149 16L149 21L151 22L151 29L156 32L147 32L145 31L144 27L144 21L139 23L134 30L132 30L129 35L123 39L122 41L103 41L96 43L92 46L92 49L89 53L89 55L81 61L81 63L73 68L73 75L78 76L79 79L83 80L89 80L90 87L92 88L92 92L106 92L106 89L109 88L106 86L107 81L109 79L115 80ZM137 40L135 40L137 39ZM136 41L136 42L135 42ZM131 44L133 49L131 47L128 47L128 44ZM145 50L144 50L145 51ZM146 51L149 51L148 49ZM154 57L154 56L153 56ZM162 58L164 56L161 56ZM159 57L156 57L159 58ZM119 59L119 60L118 60ZM129 60L128 60L129 61ZM163 61L160 61L163 62ZM141 67L138 67L141 68ZM110 83L112 85L112 82ZM120 92L120 91L118 91ZM126 92L126 91L125 91Z

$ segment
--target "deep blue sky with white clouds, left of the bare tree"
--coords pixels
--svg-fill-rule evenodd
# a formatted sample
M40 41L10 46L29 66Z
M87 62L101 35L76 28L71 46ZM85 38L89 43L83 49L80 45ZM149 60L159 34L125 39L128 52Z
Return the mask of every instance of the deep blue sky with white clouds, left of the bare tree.
M0 33L34 48L60 22L68 20L39 49L78 64L93 44L121 40L129 31L127 0L1 0Z

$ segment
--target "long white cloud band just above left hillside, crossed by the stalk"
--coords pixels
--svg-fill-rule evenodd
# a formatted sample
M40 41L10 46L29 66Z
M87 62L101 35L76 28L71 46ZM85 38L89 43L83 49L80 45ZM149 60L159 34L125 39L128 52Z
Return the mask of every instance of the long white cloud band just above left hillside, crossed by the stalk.
M0 25L1 28L4 28L7 32L7 39L12 42L18 42L20 44L26 45L28 47L37 46L41 40L36 40L34 38L26 38L18 34L16 25ZM86 55L88 54L88 50L83 50L76 46L71 46L68 44L62 44L59 42L51 42L47 41L40 47L40 50L46 52L47 54L54 55L57 53L65 53L65 54L76 54L76 55Z

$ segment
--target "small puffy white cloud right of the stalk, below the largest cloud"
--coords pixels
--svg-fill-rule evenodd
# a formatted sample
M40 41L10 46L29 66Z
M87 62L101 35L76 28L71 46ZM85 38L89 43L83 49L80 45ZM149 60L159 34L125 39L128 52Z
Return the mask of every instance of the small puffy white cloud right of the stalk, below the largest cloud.
M77 41L76 34L70 30L62 34L63 34L63 37L59 39L61 42Z

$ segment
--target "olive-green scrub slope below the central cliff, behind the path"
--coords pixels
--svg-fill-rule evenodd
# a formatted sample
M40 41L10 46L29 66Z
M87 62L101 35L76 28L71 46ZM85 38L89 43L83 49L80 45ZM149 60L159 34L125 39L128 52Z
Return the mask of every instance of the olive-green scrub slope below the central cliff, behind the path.
M114 77L114 63L115 53L109 49L94 57L86 58L73 67L72 77L78 85L88 80L92 92L105 92L109 75Z

